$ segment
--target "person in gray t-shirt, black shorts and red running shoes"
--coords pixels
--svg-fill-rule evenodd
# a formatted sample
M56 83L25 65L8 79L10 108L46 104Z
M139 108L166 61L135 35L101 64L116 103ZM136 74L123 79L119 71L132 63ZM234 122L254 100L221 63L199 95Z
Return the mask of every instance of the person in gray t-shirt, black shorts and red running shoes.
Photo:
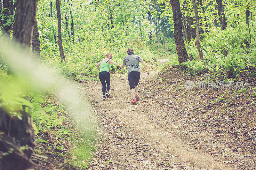
M124 62L120 66L120 69L123 69L125 65L127 65L127 71L128 71L128 81L131 89L132 94L132 104L136 104L136 100L140 100L139 98L139 81L140 81L140 63L144 66L147 74L149 74L149 71L147 69L147 66L145 62L142 60L142 58L139 55L134 54L134 50L132 48L129 48L127 50L128 56L124 57Z

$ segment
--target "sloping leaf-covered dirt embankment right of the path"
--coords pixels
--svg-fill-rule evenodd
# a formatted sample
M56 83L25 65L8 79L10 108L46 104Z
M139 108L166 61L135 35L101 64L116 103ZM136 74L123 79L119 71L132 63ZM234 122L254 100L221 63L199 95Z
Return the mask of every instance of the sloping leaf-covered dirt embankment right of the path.
M179 139L237 169L255 169L256 82L218 81L166 67L141 91L155 96L166 119L180 125ZM195 88L187 90L186 82Z

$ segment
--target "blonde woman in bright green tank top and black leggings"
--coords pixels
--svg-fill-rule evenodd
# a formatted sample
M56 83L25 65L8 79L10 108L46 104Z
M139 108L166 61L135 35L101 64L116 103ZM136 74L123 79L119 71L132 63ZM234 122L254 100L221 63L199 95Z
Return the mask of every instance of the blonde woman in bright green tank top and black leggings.
M110 89L110 74L109 74L109 69L110 69L110 63L115 64L120 67L119 64L115 63L112 59L112 53L107 53L104 55L104 59L96 64L97 69L100 71L99 72L99 79L102 84L102 93L103 93L103 100L106 100L106 96L108 98L110 97L109 94L109 89ZM106 83L107 83L107 92L106 92Z

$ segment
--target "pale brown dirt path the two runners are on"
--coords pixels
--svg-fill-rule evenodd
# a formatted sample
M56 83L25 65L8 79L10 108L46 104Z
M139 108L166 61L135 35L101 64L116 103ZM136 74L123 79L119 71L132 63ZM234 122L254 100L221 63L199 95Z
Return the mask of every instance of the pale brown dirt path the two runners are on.
M154 75L141 74L140 90L150 88L143 84ZM151 96L140 92L141 100L132 105L127 75L111 76L107 101L101 88L100 81L87 81L80 89L101 125L98 150L88 169L234 169L178 139L176 133L184 129L168 120Z

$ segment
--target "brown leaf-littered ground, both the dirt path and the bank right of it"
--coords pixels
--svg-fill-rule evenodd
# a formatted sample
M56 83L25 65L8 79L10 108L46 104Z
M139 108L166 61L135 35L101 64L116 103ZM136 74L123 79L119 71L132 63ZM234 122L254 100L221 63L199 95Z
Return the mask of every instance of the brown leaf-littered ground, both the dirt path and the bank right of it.
M185 89L186 79L206 77L142 73L136 105L127 75L111 76L107 101L100 81L81 83L101 125L88 169L256 169L255 93Z

